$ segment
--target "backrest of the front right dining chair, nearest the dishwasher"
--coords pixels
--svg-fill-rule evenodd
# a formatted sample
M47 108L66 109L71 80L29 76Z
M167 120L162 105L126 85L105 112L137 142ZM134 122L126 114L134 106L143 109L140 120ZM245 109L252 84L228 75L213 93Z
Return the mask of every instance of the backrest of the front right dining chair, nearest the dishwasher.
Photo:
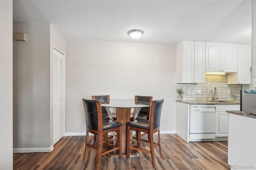
M152 101L151 111L150 111L150 126L153 126L153 129L160 126L160 118L161 118L163 103L164 103L164 99Z

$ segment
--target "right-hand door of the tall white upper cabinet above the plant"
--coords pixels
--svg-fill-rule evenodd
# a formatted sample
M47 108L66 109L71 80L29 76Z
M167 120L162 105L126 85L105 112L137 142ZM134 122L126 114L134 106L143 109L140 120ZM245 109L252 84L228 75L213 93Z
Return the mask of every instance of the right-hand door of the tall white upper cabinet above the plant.
M194 42L194 83L205 83L205 42Z

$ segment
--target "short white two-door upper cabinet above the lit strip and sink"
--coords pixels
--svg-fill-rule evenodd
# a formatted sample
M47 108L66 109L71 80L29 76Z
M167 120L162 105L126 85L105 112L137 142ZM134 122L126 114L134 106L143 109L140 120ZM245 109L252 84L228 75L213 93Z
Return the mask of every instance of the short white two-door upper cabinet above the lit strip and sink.
M237 72L238 45L206 42L206 71Z

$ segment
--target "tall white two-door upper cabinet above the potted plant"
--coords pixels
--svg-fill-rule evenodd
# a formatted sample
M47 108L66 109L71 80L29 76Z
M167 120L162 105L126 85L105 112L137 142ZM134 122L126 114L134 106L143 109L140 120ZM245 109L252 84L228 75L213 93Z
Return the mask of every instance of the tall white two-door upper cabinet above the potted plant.
M205 42L181 41L176 46L177 83L204 83Z

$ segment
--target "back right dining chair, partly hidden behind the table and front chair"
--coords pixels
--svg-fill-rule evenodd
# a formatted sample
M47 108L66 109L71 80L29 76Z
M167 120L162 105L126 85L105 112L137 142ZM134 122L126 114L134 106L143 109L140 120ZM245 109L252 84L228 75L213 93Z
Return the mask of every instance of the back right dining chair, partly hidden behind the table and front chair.
M146 101L146 102L152 102L153 97L152 96L135 96L135 101ZM138 113L138 116L136 119L149 119L150 115L150 107L142 107L140 109L140 112ZM130 121L133 121L133 117L130 118Z

